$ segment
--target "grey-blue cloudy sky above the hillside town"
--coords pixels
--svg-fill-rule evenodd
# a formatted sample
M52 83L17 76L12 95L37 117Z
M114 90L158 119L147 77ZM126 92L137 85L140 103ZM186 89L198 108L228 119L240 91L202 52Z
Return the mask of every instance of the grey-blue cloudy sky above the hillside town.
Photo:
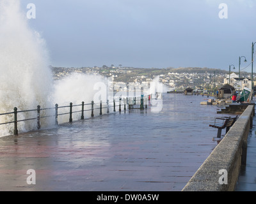
M29 3L29 27L46 41L52 66L228 70L245 56L241 69L251 70L253 0L20 0L24 15Z

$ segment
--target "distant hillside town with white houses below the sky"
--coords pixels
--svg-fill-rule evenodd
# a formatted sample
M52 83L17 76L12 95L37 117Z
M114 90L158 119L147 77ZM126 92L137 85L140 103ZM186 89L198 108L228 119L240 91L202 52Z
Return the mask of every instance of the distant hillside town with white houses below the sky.
M111 66L94 66L83 68L54 68L52 67L54 80L67 77L72 73L84 73L88 75L102 75L113 80L115 91L122 90L126 85L133 87L140 85L149 85L154 78L159 77L159 82L163 83L164 91L184 91L188 87L196 92L215 93L218 88L225 84L232 85L235 89L243 89L244 87L252 87L251 73L241 72L241 76L237 73L230 73L222 69L209 68L131 68L122 67L119 64L115 67ZM255 80L253 80L253 87ZM119 89L119 90L118 90Z

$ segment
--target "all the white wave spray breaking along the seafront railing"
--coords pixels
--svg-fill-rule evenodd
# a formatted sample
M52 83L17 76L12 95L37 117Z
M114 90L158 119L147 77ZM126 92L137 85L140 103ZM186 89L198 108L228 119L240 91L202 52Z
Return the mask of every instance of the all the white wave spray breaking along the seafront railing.
M28 18L20 9L20 1L0 0L0 113L13 112L14 107L18 111L34 110L38 105L41 108L54 108L55 103L68 106L70 102L80 105L82 101L89 104L92 100L95 103L95 115L99 115L100 100L104 103L102 113L107 112L106 101L109 99L109 103L112 103L114 96L108 94L111 83L106 78L74 73L53 82L49 64L45 41L28 26ZM156 82L159 82L159 77ZM156 84L150 87L152 92L159 92ZM84 109L91 107L86 105ZM81 106L74 107L73 111L77 110L81 110ZM59 113L68 111L68 107L58 110ZM54 115L54 109L44 110L40 114ZM90 117L90 114L90 111L84 112L85 117ZM58 120L68 122L68 117L68 114L61 115ZM74 120L79 117L81 118L81 113L73 115ZM36 111L18 113L18 120L31 118L36 118ZM13 114L0 115L0 123L13 120ZM41 126L52 126L54 117L41 119L40 122ZM36 120L18 123L19 133L36 128ZM13 123L0 125L0 136L12 134Z

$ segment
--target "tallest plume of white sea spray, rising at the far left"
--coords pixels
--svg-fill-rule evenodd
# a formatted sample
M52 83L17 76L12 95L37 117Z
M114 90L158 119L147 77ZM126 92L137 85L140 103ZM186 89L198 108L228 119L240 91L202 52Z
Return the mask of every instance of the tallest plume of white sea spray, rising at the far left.
M17 0L0 1L0 113L52 106L52 73L45 41L28 26ZM18 120L36 112L18 113ZM13 115L0 116L0 123ZM36 128L35 120L19 122L19 132ZM0 136L13 133L13 124L0 126Z

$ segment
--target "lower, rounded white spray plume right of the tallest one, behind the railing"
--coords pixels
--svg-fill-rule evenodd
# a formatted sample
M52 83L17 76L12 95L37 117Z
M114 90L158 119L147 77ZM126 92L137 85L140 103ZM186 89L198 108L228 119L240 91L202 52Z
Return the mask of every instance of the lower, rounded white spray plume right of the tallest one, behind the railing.
M108 78L104 78L100 75L88 75L83 73L72 73L71 75L56 80L54 82L54 89L52 99L58 103L58 106L81 105L84 102L84 117L91 117L92 101L95 103L93 108L95 109L95 115L99 115L99 103L102 101L102 107L106 107L106 101L108 98ZM58 113L67 113L67 108L59 108ZM81 106L76 106L73 109L74 120L81 118ZM104 108L102 113L106 113L107 109ZM58 121L67 122L69 115L61 115L58 117Z

